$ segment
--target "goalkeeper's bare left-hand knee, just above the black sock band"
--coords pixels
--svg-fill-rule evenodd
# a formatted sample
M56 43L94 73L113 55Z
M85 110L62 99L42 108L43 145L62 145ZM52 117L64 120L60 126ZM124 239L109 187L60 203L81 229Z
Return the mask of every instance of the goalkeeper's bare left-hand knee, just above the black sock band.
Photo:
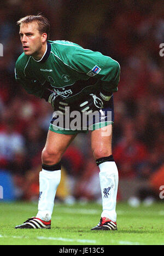
M54 165L60 162L61 154L57 152L55 149L50 150L48 148L44 148L42 151L42 162L45 165Z

